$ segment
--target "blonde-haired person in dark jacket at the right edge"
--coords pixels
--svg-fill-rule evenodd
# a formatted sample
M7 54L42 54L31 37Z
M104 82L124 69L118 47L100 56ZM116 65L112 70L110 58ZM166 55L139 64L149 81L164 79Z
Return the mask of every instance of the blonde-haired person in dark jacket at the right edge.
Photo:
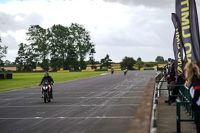
M189 86L191 105L194 112L194 120L197 132L200 133L200 72L196 63L191 62L185 65L186 85Z

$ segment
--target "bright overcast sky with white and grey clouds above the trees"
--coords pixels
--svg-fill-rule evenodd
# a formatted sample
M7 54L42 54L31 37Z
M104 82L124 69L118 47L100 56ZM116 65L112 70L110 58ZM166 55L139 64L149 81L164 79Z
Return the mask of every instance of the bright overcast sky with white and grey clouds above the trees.
M200 18L200 1L196 3ZM50 28L71 23L90 32L96 61L106 54L114 62L125 56L143 61L155 61L157 56L174 58L173 12L175 0L1 0L1 45L8 46L3 60L15 60L30 25Z

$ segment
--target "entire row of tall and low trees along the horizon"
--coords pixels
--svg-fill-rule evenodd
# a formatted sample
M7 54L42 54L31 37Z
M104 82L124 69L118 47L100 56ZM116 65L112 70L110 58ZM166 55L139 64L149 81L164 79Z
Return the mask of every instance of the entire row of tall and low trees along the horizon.
M77 70L86 69L87 64L92 64L92 69L96 69L95 64L101 64L102 67L111 67L112 60L107 54L100 62L95 61L95 45L91 42L89 32L80 24L72 23L69 27L60 24L53 25L44 29L39 25L31 25L28 29L27 43L20 43L18 56L14 65L18 71L31 71L40 66L48 71L49 67L54 70ZM0 38L1 42L1 38ZM0 45L0 65L9 64L2 58L7 53L7 46ZM89 61L85 61L89 55ZM162 56L156 58L157 63L165 63ZM156 62L143 62L139 57L134 60L132 57L124 57L120 62L121 68L127 67L133 69L135 65L141 67L152 67Z

